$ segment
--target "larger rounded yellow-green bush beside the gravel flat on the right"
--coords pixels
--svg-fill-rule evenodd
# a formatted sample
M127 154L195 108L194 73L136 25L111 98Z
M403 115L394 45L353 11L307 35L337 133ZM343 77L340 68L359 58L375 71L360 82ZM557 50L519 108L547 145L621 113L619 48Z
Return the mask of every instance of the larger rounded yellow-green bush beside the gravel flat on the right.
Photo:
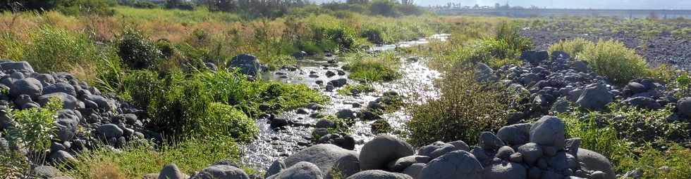
M616 84L626 84L649 74L645 60L618 41L598 41L595 46L578 53L577 58L585 60L597 74Z

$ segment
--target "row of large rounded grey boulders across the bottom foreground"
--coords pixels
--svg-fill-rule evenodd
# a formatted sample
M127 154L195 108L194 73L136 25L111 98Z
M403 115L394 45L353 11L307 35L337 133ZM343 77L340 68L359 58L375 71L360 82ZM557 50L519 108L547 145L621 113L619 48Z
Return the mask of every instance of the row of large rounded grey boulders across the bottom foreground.
M481 133L472 147L459 140L416 151L392 135L377 136L360 152L319 144L274 161L264 178L615 178L608 159L580 148L579 138L565 139L564 133L561 119L544 116L534 124L504 126L496 135ZM187 176L169 165L158 177ZM232 164L214 164L191 178L212 177L261 178Z

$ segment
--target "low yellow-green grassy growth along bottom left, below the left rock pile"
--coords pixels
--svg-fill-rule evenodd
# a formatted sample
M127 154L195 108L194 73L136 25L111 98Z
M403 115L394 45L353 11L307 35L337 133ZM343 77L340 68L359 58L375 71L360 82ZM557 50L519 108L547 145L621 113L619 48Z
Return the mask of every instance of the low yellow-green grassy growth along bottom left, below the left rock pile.
M141 178L148 173L158 173L166 164L176 164L183 173L200 171L216 161L236 161L240 151L232 139L184 140L174 145L155 147L152 143L130 143L114 152L107 147L97 147L79 155L79 161L71 166L58 168L74 178Z

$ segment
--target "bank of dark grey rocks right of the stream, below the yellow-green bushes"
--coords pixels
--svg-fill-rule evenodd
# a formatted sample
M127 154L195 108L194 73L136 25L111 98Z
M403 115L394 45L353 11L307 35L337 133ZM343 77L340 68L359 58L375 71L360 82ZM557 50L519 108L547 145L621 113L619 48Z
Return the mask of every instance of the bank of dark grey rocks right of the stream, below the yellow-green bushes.
M675 99L673 92L653 79L633 79L623 87L613 85L589 69L587 62L574 60L562 51L551 55L547 51L525 51L520 58L525 61L521 67L505 65L492 70L479 64L475 70L478 81L498 81L523 96L522 104L528 107L511 115L512 124L544 114L569 112L574 107L607 110L615 101L652 110L689 101ZM685 114L691 113L685 105L678 105L677 111L691 116Z

